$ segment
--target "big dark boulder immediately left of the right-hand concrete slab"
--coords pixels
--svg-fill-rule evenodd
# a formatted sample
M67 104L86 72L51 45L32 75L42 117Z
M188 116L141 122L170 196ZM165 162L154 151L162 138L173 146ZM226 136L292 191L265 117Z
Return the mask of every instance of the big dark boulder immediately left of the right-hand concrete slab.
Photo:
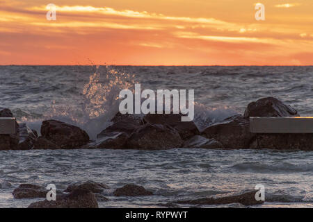
M250 133L249 120L241 115L225 119L204 129L202 136L216 139L225 148L249 148L255 135Z

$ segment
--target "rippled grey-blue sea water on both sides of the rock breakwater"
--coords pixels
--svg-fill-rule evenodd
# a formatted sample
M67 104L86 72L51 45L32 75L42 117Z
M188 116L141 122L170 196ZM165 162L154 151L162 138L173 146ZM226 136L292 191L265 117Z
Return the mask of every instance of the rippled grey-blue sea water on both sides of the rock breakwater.
M94 138L118 110L120 89L195 89L199 128L243 113L250 101L275 96L301 116L313 114L313 67L106 67L0 66L0 108L40 132L44 119L59 119ZM168 151L0 151L0 207L26 207L15 200L22 182L95 180L111 187L100 207L155 207L265 186L266 203L257 207L313 207L313 152L272 150ZM154 196L116 198L113 190L136 183ZM189 206L186 206L189 207ZM204 206L212 207L212 206Z

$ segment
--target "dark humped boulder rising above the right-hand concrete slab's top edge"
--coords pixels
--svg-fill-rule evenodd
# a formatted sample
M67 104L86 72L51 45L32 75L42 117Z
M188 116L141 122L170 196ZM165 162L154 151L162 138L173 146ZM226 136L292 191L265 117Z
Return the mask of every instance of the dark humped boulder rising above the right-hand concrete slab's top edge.
M298 117L298 112L290 105L273 97L266 97L248 104L243 115L249 117Z

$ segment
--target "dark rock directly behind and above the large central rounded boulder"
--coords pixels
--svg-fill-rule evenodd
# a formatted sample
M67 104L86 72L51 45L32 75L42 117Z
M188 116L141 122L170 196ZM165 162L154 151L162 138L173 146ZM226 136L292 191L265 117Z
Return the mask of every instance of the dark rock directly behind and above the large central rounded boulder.
M198 127L193 121L182 121L182 114L146 114L143 117L145 123L168 125L175 128L182 139L188 139L194 135L200 135Z

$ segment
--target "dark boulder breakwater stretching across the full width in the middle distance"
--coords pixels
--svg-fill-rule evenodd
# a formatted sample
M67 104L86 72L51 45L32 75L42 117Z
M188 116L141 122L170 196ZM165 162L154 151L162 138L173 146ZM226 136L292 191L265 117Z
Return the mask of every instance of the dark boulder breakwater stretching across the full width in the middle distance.
M298 117L298 112L273 97L249 103L238 114L198 130L193 121L182 122L181 114L116 114L111 125L91 141L77 126L56 120L42 122L40 136L25 123L16 123L15 135L0 135L0 150L112 148L161 150L168 148L227 148L313 150L313 134L253 134L249 117ZM10 110L0 117L13 117Z

